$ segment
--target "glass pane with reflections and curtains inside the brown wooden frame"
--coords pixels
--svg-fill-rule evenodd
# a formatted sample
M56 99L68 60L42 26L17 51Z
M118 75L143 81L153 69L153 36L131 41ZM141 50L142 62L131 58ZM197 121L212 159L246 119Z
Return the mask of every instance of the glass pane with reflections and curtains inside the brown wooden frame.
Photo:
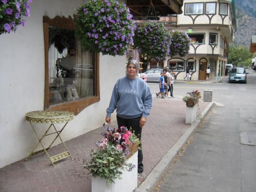
M49 26L49 105L95 96L95 61L74 30Z

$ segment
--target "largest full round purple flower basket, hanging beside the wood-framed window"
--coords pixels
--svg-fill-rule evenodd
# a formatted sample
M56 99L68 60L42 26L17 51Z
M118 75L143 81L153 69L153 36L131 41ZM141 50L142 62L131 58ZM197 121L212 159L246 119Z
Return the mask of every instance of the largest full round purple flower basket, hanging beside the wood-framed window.
M124 55L133 44L134 21L125 4L116 0L89 0L77 9L76 38L84 50Z

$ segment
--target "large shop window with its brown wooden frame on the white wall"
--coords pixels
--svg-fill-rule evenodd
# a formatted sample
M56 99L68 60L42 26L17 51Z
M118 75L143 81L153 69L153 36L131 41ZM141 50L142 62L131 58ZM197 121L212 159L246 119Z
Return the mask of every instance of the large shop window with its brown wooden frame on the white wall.
M79 113L99 101L99 54L83 51L71 17L44 17L45 109Z

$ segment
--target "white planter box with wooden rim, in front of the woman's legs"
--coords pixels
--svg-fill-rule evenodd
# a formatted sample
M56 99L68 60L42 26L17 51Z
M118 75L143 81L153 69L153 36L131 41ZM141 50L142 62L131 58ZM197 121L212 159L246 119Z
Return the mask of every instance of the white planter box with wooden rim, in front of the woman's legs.
M136 167L131 172L122 170L122 179L114 180L115 183L108 184L102 177L92 177L92 192L132 192L137 187L138 145L134 144L130 154L126 156L127 163Z

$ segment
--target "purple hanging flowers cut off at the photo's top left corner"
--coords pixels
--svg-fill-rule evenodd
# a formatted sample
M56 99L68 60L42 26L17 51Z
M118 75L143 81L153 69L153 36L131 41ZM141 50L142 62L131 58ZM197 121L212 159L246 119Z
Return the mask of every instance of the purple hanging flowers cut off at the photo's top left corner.
M25 26L24 17L30 16L29 3L32 0L0 0L0 35Z

